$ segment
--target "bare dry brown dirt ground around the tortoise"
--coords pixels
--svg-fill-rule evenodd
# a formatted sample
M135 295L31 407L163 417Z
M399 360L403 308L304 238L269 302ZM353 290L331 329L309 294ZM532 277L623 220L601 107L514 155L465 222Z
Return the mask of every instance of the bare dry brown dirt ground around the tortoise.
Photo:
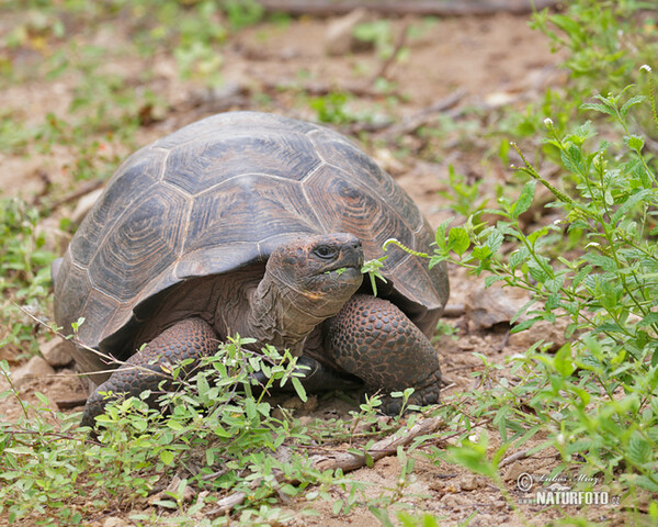
M229 88L224 94L200 94L197 86L179 80L172 57L157 57L148 67L154 68L156 74L155 89L167 98L170 108L160 120L138 132L138 143L147 144L216 111L259 109L261 106L251 97L259 92L270 96L268 108L272 111L314 119L314 112L309 110L308 104L299 103L294 91L281 89L295 82L318 91L328 88L352 90L353 87L367 87L370 77L383 67L383 59L374 51L329 57L325 53L324 35L332 20L302 18L285 26L265 23L239 32L223 51L223 76L225 86ZM438 101L455 96L455 119L458 119L458 109L476 106L483 114L481 122L486 122L487 112L500 104L512 102L521 108L525 101L541 97L546 86L557 86L564 81L564 74L555 68L557 57L551 53L546 38L527 26L527 16L501 13L440 19L432 23L408 18L393 20L394 35L406 24L416 24L423 30L419 36L407 43L410 52L408 58L389 65L386 70L389 80L397 85L396 90L407 96L406 102L386 106L387 113L397 120L418 116ZM97 43L122 38L118 24L115 30L116 34L95 35ZM109 67L124 68L124 72L137 72L145 65L118 61ZM71 93L65 77L54 83L27 82L16 86L4 90L1 98L10 106L24 109L25 119L37 122L48 112L65 112ZM383 98L370 97L367 93L352 102L354 111L365 110L371 113L376 113L377 109L384 105ZM465 126L449 131L440 137L440 155L432 160L412 155L415 152L421 152L423 145L419 144L421 139L418 136L410 134L402 137L401 144L412 154L401 158L393 156L386 147L368 147L370 154L409 192L433 225L453 215L442 209L443 202L436 193L446 189L450 164L468 178L484 179L483 192L492 191L496 182L511 177L510 170L500 164L481 162L489 154L485 152L487 144L477 137L477 122L470 126L474 131L470 135ZM351 131L341 130L348 133ZM358 132L354 128L352 131ZM66 170L72 161L72 156L73 153L66 146L56 146L53 154L44 156L2 155L0 188L5 195L22 194L31 199L34 193L43 191L43 175L46 175L54 184L61 186L67 192L72 191L75 188ZM57 217L70 215L75 205L73 201L70 208L67 205L58 209ZM483 328L474 318L473 302L468 300L479 300L484 296L481 283L464 276L457 269L451 269L451 280L450 303L456 306L456 313L455 317L446 318L446 322L458 328L460 333L457 338L443 337L438 346L449 384L445 394L474 388L472 373L478 370L481 362L472 355L473 351L485 354L491 360L502 363L506 357L524 351L533 339L540 338L536 334L508 338L504 330ZM494 294L492 302L502 296L503 293L500 292ZM508 303L513 302L514 299ZM465 305L464 311L460 311L460 305ZM495 314L498 309L492 305L485 304L483 309ZM504 306L500 310L504 311ZM504 316L501 318L503 326ZM509 319L509 314L507 316ZM3 358L12 361L12 368L21 366L21 362L15 360L15 354L7 350L3 354ZM29 381L22 389L23 395L34 401L34 392L39 391L52 402L79 396L82 392L77 379L67 373L70 371L63 370L57 377ZM5 384L0 382L0 391L4 388ZM344 405L336 401L324 404L327 407L316 408L314 415L321 416L322 412L329 412L332 405ZM4 418L11 419L18 412L19 408L11 397L0 401L0 415ZM495 448L495 433L491 437L491 447ZM527 445L524 448L527 448ZM555 455L542 451L536 457L507 464L502 476L512 498L520 504L521 514L517 514L510 509L500 491L484 478L473 476L455 466L435 466L418 456L411 476L412 483L405 491L402 503L407 503L412 513L426 511L438 518L444 518L440 525L446 526L460 525L467 518L470 518L468 525L472 526L515 526L525 523L547 525L561 516L560 511L555 507L543 508L521 504L523 494L517 487L517 478L522 472L547 474L557 462ZM389 489L396 486L400 470L398 459L389 457L376 462L372 469L364 468L351 473L351 478L367 482L364 496L373 498L390 492ZM336 493L339 497L339 492ZM319 516L299 515L291 525L381 525L365 507L355 507L348 515L334 515L331 505L332 503L308 503L303 500L293 502L287 505L293 511L302 512L310 507L318 511ZM612 520L610 525L622 525L615 523L615 509L611 507L568 507L568 512L582 514L594 520ZM115 523L107 523L109 518L102 516L88 518L87 525L132 525L127 519L128 515L129 512L110 515L110 519L116 518Z

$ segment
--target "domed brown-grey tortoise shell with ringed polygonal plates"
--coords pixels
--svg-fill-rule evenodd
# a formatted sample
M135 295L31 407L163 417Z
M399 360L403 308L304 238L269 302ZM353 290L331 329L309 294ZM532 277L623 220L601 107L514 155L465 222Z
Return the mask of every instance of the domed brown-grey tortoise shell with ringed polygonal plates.
M427 251L433 231L411 199L354 144L326 127L273 114L229 112L133 154L81 223L55 280L55 319L103 351L140 306L182 281L265 261L281 243L343 232L413 322L432 333L447 298L445 266ZM364 283L367 282L364 281ZM426 327L423 327L423 325ZM430 327L432 326L432 327ZM83 371L88 350L78 349ZM86 366L87 365L89 366Z

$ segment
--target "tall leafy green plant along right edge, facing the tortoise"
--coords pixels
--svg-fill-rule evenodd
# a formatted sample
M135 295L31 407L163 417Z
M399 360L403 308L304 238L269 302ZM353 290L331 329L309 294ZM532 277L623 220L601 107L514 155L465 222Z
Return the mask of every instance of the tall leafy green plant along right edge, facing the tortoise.
M542 352L540 341L513 359L512 373L523 383L501 382L490 395L474 396L481 411L494 415L503 439L507 428L513 431L509 441L522 442L538 426L547 427L551 438L543 447L560 453L557 472L602 474L606 487L622 485L634 503L640 490L658 492L658 248L651 240L657 231L647 228L658 205L658 184L645 139L628 126L631 109L646 102L640 96L624 101L626 92L598 96L582 105L623 131L598 147L589 146L595 136L591 123L561 135L546 120L546 143L559 153L575 190L556 188L519 152L524 160L519 170L530 177L520 197L501 198L499 208L488 211L500 220L481 231L473 228L470 218L452 228L445 222L431 262L449 260L485 273L487 285L502 281L530 291L532 300L512 332L540 321L569 321L572 341L555 355ZM519 216L530 208L536 182L553 193L551 206L561 211L563 220L525 233ZM582 233L585 246L577 256L552 257L545 239L563 229ZM507 256L501 254L506 240L513 244ZM520 401L534 414L523 412Z

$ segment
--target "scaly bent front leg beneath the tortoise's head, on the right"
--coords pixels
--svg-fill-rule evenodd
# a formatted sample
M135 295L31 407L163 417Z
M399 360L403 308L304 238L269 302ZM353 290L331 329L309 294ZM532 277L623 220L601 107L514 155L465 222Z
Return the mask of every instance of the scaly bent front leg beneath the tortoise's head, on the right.
M328 347L336 362L363 379L367 392L384 392L385 413L401 410L401 400L387 394L409 386L415 389L411 404L439 402L436 350L395 304L358 294L327 324Z

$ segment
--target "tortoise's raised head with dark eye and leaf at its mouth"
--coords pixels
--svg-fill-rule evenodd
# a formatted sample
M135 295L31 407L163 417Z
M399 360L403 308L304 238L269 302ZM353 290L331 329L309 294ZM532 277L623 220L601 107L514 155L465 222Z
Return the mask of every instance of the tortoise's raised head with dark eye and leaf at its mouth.
M363 274L361 242L351 234L326 234L299 238L277 247L268 260L268 271L296 302L319 304L337 312L352 296ZM334 306L338 305L338 309Z

